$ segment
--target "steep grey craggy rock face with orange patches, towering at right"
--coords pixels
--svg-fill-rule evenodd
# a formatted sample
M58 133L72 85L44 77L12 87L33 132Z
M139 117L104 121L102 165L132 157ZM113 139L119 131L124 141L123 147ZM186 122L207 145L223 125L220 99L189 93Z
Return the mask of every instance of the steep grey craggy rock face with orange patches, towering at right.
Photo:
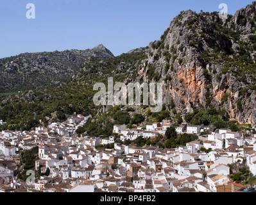
M216 12L181 12L161 40L149 44L137 80L164 83L164 103L173 99L183 117L211 105L225 108L232 120L256 124L255 51L249 48L255 40L244 36L254 35L255 19L255 3L225 22ZM242 51L248 56L242 58ZM250 71L243 67L248 62Z

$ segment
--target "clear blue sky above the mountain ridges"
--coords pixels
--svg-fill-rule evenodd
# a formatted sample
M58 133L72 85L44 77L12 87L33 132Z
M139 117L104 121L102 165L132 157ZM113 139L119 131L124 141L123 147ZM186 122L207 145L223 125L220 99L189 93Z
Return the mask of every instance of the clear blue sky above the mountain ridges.
M159 40L181 11L228 13L252 0L0 0L0 58L105 45L115 56ZM35 5L35 19L28 19Z

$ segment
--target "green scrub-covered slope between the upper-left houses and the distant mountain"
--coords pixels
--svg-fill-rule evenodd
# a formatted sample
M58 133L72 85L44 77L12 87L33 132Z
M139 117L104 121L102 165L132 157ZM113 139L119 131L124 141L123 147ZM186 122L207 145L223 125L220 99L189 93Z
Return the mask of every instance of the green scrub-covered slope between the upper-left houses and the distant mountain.
M7 122L7 125L1 126L0 129L30 130L40 125L47 125L49 119L63 121L74 112L94 116L100 106L95 106L92 101L92 96L98 92L93 90L93 85L99 82L107 85L107 78L112 73L114 73L114 83L124 82L127 79L126 72L135 79L137 77L135 63L145 57L144 51L141 51L104 60L90 58L76 78L70 79L66 85L57 88L38 88L12 95L10 101L0 104L0 119ZM1 97L3 101L7 95ZM124 122L127 121L124 119Z

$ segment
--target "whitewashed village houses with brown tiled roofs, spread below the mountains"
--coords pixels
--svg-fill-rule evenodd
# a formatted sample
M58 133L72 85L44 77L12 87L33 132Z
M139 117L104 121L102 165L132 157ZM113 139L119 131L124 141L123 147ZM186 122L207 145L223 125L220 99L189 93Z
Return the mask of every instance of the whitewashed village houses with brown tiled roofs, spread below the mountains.
M115 125L115 135L105 138L75 135L74 130L87 119L71 117L62 124L38 127L34 133L13 133L11 137L2 132L0 192L241 192L244 187L230 179L228 165L246 160L256 175L256 135L244 138L230 129L219 129L203 140L175 149L137 147L118 143L117 137L119 142L138 136L155 138L164 135L172 125L152 123L132 129ZM200 126L175 129L180 135L198 135L205 130ZM114 148L102 146L108 143L113 143ZM49 175L42 174L33 184L13 176L19 160L15 161L17 156L5 151L8 146L17 151L30 144L38 146L35 170L49 170Z

